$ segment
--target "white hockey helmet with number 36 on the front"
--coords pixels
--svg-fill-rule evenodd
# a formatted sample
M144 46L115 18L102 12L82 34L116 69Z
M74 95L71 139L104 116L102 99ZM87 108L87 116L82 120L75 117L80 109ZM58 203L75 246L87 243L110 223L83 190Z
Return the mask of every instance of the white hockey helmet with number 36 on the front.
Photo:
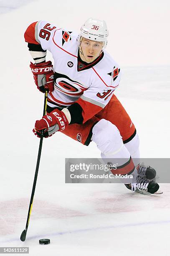
M104 42L104 49L107 46L108 35L109 32L107 30L107 25L104 20L89 18L88 20L86 20L84 25L81 26L80 33L78 36L78 44L80 46L82 37L84 37L89 40Z

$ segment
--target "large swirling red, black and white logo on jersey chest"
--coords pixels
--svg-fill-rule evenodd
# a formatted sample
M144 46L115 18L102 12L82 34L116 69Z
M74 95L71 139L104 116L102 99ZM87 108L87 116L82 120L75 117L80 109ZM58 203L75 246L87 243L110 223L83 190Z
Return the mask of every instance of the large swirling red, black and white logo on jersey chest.
M72 97L79 96L87 90L80 82L74 81L66 75L56 72L54 74L54 87L56 90Z

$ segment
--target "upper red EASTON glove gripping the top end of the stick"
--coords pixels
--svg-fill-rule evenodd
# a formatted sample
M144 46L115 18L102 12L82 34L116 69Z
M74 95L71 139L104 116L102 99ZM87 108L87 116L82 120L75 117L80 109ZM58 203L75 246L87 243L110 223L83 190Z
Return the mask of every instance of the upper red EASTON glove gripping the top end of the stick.
M45 92L44 86L48 86L48 91L54 90L54 72L51 61L42 62L38 64L30 63L31 71L33 72L34 81L38 90Z

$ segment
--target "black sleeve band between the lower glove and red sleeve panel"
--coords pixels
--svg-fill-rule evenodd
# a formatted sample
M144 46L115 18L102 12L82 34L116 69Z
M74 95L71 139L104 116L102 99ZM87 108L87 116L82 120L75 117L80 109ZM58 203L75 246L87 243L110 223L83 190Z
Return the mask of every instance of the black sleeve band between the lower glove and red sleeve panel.
M83 110L78 103L74 103L73 105L69 106L68 110L71 115L70 124L73 124L73 123L82 124L83 123L83 116L82 116Z

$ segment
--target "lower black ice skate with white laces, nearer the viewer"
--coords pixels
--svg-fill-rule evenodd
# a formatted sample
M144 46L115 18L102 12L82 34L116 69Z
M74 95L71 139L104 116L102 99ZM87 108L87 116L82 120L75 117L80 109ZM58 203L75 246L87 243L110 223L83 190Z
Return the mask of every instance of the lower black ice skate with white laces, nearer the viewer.
M140 175L136 178L136 183L124 184L128 189L132 190L132 192L137 192L144 195L150 194L162 194L162 191L158 191L160 186L149 179L143 178Z

